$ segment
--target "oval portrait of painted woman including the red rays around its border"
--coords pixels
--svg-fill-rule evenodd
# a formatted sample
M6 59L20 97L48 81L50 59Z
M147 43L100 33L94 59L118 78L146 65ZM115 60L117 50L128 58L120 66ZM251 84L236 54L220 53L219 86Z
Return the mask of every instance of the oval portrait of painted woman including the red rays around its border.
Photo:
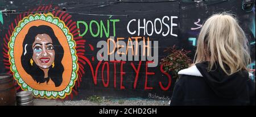
M40 6L17 16L3 39L3 57L6 69L10 69L7 73L13 73L18 84L16 90L29 90L40 98L64 99L73 97L80 86L76 82L81 82L84 74L79 67L85 64L81 62L85 41L68 13L38 12L51 7Z

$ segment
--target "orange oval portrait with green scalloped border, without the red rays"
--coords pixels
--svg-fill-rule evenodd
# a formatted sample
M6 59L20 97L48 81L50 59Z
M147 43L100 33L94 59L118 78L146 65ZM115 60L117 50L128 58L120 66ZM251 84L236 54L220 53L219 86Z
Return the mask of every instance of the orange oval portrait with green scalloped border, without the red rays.
M23 90L47 98L71 93L77 79L76 43L59 18L28 15L15 27L9 47L10 68Z

